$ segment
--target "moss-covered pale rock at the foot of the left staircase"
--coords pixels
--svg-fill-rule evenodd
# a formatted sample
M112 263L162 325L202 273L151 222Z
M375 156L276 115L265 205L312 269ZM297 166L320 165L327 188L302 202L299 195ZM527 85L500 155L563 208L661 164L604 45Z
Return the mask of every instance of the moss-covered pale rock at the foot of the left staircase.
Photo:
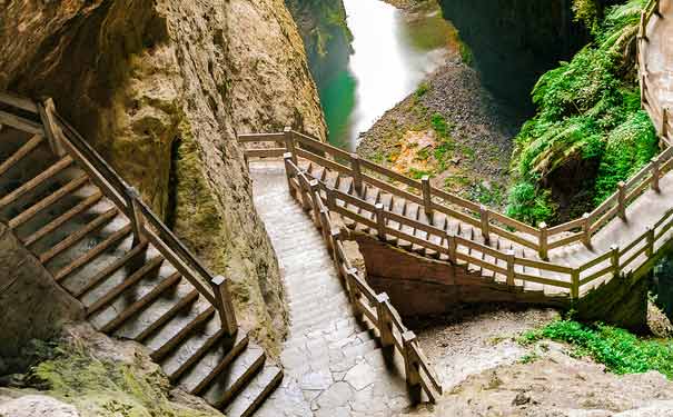
M57 358L32 368L29 381L48 395L72 404L82 417L206 417L216 413L190 409L169 399L170 385L157 368L101 360L83 349L67 347Z

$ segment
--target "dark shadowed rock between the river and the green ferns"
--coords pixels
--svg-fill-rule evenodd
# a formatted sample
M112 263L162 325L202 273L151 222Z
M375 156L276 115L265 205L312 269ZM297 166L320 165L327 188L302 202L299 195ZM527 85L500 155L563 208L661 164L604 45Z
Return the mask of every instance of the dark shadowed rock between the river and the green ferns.
M444 17L474 52L484 82L508 105L530 109L542 73L587 40L573 20L571 0L439 0Z

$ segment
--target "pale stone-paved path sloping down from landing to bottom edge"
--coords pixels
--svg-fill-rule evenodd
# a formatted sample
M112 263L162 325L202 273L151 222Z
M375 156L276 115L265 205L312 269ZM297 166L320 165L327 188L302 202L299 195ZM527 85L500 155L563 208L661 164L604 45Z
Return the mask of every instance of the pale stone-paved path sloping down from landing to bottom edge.
M255 203L278 255L290 302L283 385L258 416L390 416L410 405L398 361L388 366L348 298L278 162L250 165ZM400 371L397 371L399 369Z

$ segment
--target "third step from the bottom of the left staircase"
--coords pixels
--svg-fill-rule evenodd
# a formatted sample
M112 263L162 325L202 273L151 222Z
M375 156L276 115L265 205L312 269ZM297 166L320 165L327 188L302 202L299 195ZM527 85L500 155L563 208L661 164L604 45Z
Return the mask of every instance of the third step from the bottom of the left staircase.
M199 395L210 384L219 377L231 363L240 355L248 346L248 335L244 331L238 331L236 337L226 339L226 344L216 345L199 361L198 366L192 367L180 378L180 386L188 393ZM214 361L215 360L215 361ZM217 364L211 366L212 364Z

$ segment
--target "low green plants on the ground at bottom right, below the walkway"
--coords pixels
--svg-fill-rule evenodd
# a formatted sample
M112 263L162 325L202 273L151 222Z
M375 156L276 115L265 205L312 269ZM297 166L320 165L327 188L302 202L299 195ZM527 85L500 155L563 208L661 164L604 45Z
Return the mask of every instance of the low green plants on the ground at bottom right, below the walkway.
M673 379L672 341L642 339L602 324L590 327L573 320L557 320L525 332L519 342L531 344L545 338L570 344L573 356L588 356L615 374L657 370Z

